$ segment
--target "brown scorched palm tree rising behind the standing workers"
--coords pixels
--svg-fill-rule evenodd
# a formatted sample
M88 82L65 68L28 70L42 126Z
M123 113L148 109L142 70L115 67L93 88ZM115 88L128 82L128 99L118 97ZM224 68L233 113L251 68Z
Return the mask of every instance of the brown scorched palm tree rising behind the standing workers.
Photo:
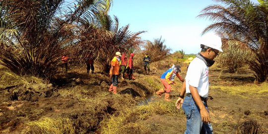
M139 49L142 43L139 34L144 31L132 33L129 31L129 25L119 28L119 20L116 16L114 19L106 11L96 13L94 23L88 20L80 20L82 23L79 28L80 46L75 55L80 54L82 57L76 61L83 61L89 55L95 57L95 61L102 65L102 69L109 71L109 63L117 51L125 51L130 48Z

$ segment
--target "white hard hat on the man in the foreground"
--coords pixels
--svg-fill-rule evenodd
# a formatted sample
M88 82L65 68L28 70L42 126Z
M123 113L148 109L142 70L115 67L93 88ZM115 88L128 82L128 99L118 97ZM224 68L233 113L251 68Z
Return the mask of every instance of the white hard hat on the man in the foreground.
M201 37L201 45L216 49L223 52L221 49L221 38L215 34L205 34Z

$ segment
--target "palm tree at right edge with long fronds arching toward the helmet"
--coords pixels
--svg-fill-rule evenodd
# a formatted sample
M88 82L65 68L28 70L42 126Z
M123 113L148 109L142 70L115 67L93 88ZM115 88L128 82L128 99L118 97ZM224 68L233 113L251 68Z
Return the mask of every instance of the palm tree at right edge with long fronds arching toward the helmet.
M268 79L268 1L255 4L250 0L216 0L220 4L209 5L199 17L205 17L213 24L202 33L214 30L227 35L225 38L239 40L255 53L250 60L250 69L255 72L258 82ZM249 57L250 58L250 57Z

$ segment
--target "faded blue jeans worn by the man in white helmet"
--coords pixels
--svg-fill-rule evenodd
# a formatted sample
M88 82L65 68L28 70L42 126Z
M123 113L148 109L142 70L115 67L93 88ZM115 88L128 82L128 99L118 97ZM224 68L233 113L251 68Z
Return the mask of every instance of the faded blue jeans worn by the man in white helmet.
M206 110L206 102L202 101ZM201 119L200 109L192 97L184 98L182 109L186 115L186 131L184 134L213 134L213 129L210 123L204 124Z

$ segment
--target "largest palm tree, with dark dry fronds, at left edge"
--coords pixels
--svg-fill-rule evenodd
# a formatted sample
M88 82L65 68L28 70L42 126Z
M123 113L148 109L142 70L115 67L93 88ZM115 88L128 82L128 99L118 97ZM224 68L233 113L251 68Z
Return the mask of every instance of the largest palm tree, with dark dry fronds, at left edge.
M1 0L0 65L17 74L50 77L76 41L79 20L93 21L107 1Z

